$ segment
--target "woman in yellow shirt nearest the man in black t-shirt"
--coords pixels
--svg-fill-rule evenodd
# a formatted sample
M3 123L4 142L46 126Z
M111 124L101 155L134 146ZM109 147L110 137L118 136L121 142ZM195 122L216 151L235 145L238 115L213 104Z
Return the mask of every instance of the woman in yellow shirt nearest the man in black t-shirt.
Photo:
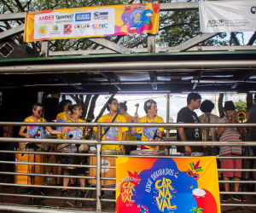
M164 123L163 118L157 115L157 106L154 100L148 100L144 103L144 111L146 115L138 119L138 114L135 113L135 123ZM164 133L164 128L157 127L132 127L131 134L142 132L142 141L161 141ZM153 153L159 151L159 146L141 146L141 149L152 149Z

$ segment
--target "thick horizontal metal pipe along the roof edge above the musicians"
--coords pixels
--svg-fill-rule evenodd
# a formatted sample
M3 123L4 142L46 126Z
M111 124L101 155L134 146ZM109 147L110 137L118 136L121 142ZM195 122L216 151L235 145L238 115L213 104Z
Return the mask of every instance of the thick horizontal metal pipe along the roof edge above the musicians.
M104 63L68 63L44 65L20 65L0 66L0 73L55 73L55 72L144 72L165 70L166 72L177 72L176 69L188 69L187 72L194 72L195 69L205 69L205 72L212 72L211 69L218 69L215 72L223 72L222 68L230 69L253 69L256 68L256 60L173 60L173 61L127 61L127 62L104 62ZM207 69L210 69L208 71Z

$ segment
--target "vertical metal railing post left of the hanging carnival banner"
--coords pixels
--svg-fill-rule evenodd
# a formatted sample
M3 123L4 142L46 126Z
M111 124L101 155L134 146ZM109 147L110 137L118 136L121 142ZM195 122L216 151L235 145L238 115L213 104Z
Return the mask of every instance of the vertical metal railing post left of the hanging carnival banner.
M97 153L96 153L96 210L102 211L102 182L101 182L101 171L102 171L102 159L101 159L101 151L102 145L100 142L102 141L102 126L97 126L97 138L98 144L96 145Z

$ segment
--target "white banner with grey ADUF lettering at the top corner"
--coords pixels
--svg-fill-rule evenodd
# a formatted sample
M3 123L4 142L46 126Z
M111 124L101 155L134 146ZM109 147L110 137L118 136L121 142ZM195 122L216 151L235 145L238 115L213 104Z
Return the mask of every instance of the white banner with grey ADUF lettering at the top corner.
M256 0L200 2L201 32L256 31Z

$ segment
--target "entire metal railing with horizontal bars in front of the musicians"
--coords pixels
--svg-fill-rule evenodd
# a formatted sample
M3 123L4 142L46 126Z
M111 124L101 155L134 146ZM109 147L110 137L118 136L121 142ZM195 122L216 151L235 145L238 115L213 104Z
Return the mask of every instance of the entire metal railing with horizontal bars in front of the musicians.
M27 125L23 122L0 122L0 125L11 125L11 126L21 126ZM30 143L53 143L53 144L87 144L96 146L96 153L57 153L57 152L27 152L21 150L0 150L0 153L9 153L9 154L40 154L40 155L55 155L55 156L79 156L79 157L96 157L96 165L90 164L69 164L74 168L93 168L96 169L96 176L64 176L64 175L47 175L47 174L32 174L32 173L21 173L21 172L9 172L9 171L0 171L0 175L6 176L42 176L42 177L68 177L68 178L84 178L88 180L96 179L96 186L90 187L61 187L61 186L46 186L46 185L32 185L32 184L17 184L17 183L7 183L1 182L0 187L32 187L32 188L68 188L73 190L84 189L88 191L96 191L96 198L73 198L73 197L60 197L60 196L49 196L49 195L35 195L35 194L20 194L20 193L0 193L0 196L11 196L11 197L23 197L23 198L38 198L38 199L62 199L62 200L80 200L80 201L96 201L96 211L99 212L102 210L102 202L115 202L115 199L102 199L102 191L115 191L114 187L102 187L102 180L111 180L115 181L114 177L101 177L102 169L115 169L115 166L105 166L102 165L102 157L115 157L115 154L104 155L101 153L102 145L154 145L154 146L241 146L241 147L256 147L256 141L241 141L241 142L230 142L230 141L102 141L102 127L103 126L128 126L128 127L164 127L166 129L174 129L177 127L186 127L186 128L195 128L195 127L245 127L251 128L256 127L256 124L121 124L121 123L38 123L31 122L30 126L88 126L88 127L97 127L97 138L99 140L61 140L61 139L26 139L26 138L14 138L14 137L1 137L0 142L30 142ZM138 158L152 158L152 156L132 156ZM157 158L172 158L173 156L157 156ZM188 158L184 156L175 156L175 158ZM154 156L155 158L155 156ZM241 157L217 157L218 159L222 158L241 158L241 159L256 159L255 156L241 156ZM27 164L27 165L42 165L42 166L60 166L64 167L67 164L59 163L36 163L36 162L17 162L17 161L4 161L0 160L0 164ZM228 171L228 169L218 169L218 171ZM235 170L233 170L235 171ZM241 172L253 172L255 169L241 169L236 170ZM255 184L256 181L219 181L219 183L241 183L241 184ZM253 192L220 192L220 194L242 194L242 195L256 195ZM221 204L222 206L241 206L241 207L256 207L256 204ZM36 212L37 208L33 206L29 207L31 211L27 209L24 211L22 206L10 206L9 204L0 204L0 210L13 210L20 212ZM55 212L55 209L50 209L47 212ZM40 211L44 212L44 210ZM64 212L68 212L65 211ZM74 212L74 211L72 211ZM91 211L90 211L91 212Z

